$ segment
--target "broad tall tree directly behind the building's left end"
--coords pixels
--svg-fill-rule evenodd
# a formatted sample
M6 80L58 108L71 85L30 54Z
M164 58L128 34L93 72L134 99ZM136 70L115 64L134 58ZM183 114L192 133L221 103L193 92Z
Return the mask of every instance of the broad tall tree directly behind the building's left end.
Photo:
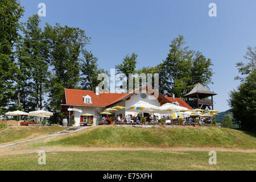
M80 53L89 38L84 30L72 27L61 27L46 25L44 29L47 43L49 45L49 62L52 73L48 84L48 110L55 113L52 119L61 119L61 101L64 88L80 88Z

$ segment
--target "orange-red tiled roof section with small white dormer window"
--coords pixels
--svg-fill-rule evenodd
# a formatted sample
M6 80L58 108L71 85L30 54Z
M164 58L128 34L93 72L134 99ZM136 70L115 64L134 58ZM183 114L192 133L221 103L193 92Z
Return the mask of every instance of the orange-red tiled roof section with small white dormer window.
M87 96L87 95L89 95L92 98L93 104L85 104L84 103L82 96ZM121 100L123 97L125 97L127 95L128 95L128 93L100 92L100 95L96 96L94 91L90 91L90 90L65 89L65 99L67 100L65 102L65 104L105 107L105 106L112 104L113 101Z

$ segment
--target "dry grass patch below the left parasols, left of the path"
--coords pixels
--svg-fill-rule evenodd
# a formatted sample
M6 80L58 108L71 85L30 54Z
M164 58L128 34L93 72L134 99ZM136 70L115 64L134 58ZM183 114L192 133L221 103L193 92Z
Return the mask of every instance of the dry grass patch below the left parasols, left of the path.
M31 139L48 135L66 129L65 127L7 127L0 131L0 144L16 142L19 140Z

